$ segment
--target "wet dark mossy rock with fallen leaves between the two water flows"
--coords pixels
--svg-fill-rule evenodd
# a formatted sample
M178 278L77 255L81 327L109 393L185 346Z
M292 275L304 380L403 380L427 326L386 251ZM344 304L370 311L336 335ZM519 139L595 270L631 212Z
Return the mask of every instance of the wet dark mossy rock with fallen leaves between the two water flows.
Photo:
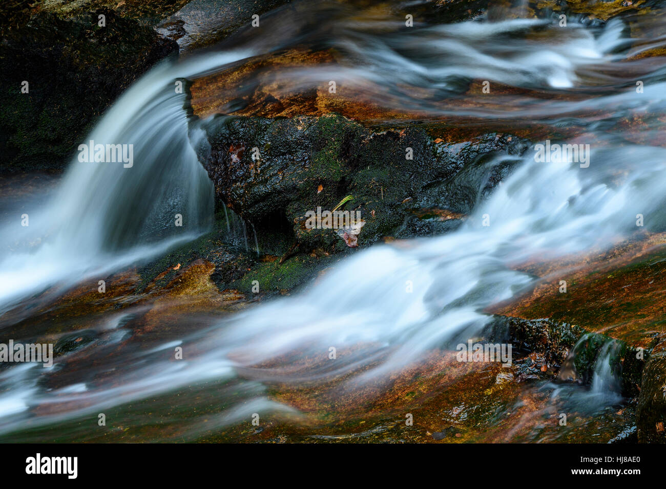
M257 234L279 228L286 242L307 253L348 248L336 230L308 228L306 213L333 210L349 195L353 200L340 210L360 213L359 247L453 229L462 216L420 218L415 210L471 212L527 148L524 140L496 134L435 142L420 126L378 131L336 115L218 116L206 132L208 143L198 154L218 206L234 210ZM498 162L496 154L507 158Z

